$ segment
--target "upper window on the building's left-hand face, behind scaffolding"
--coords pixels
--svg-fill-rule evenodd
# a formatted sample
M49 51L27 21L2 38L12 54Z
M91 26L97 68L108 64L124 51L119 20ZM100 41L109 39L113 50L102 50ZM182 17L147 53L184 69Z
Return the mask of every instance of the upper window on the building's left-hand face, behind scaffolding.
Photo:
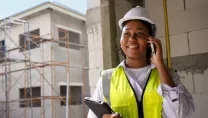
M22 52L24 50L28 50L29 46L28 43L29 41L27 40L25 42L25 39L29 39L30 38L30 49L35 49L40 47L40 29L37 30L33 30L29 33L29 38L27 38L27 34L20 34L19 35L19 51ZM26 44L25 44L26 43Z

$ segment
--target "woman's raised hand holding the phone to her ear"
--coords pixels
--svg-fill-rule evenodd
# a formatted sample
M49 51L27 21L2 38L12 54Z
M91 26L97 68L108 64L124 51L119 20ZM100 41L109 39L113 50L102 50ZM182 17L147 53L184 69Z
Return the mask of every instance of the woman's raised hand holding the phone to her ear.
M162 44L159 39L149 37L149 43L152 42L155 46L155 55L152 54L151 61L158 68L159 66L164 64L163 61L163 53L162 53Z

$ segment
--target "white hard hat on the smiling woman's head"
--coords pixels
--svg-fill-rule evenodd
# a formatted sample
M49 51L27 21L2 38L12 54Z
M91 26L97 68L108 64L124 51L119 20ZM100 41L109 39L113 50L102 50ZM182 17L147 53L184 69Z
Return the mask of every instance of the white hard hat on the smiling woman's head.
M153 32L155 33L156 31L156 26L155 26L155 23L149 18L149 15L146 11L145 8L143 7L140 7L140 6L136 6L134 8L132 8L131 10L129 10L122 19L119 20L119 27L120 29L122 30L122 24L125 22L125 21L128 21L128 20L143 20L143 21L146 21L150 24L152 24L152 30Z

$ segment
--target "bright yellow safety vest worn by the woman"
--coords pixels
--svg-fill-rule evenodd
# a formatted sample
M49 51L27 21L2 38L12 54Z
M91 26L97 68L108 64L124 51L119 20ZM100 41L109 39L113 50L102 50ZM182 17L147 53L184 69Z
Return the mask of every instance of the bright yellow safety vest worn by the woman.
M106 84L103 83L104 99L115 112L120 113L123 118L162 118L163 99L157 92L160 78L156 68L152 69L149 75L141 97L142 103L138 102L134 89L126 77L122 66L114 69L111 74L109 81L110 93L105 93ZM106 99L106 96L109 97L110 101Z

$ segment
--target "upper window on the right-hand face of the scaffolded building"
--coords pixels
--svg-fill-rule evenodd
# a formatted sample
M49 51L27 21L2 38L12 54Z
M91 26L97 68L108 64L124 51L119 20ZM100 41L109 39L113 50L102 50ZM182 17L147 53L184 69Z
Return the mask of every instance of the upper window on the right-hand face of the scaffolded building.
M59 40L62 41L59 43L61 47L69 47L70 49L79 50L80 49L80 34L72 31L66 31L59 29ZM69 46L64 42L70 42Z

